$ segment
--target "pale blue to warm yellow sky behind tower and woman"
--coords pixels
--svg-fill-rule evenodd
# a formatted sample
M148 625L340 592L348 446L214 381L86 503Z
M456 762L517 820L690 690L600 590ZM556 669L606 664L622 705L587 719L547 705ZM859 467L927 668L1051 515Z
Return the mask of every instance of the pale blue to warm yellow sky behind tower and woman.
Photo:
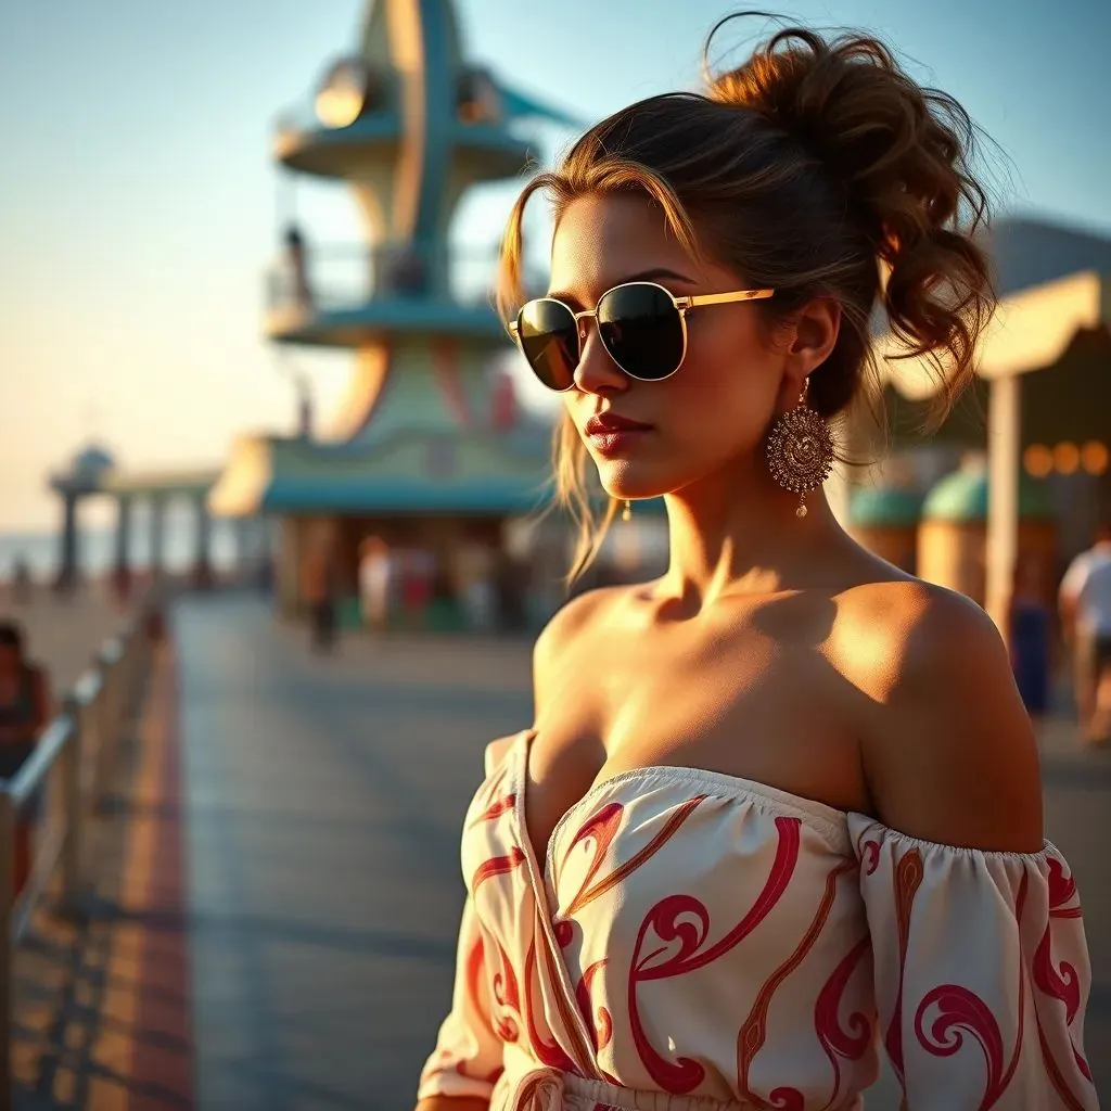
M722 0L457 0L471 57L595 119L694 87ZM90 437L131 467L218 464L289 427L260 334L262 272L296 210L356 242L342 187L281 184L276 114L350 49L362 0L0 3L0 529L47 526L46 473ZM1004 207L1111 234L1107 0L795 0L879 31L1007 156ZM493 241L514 186L464 209ZM303 356L327 412L344 356Z

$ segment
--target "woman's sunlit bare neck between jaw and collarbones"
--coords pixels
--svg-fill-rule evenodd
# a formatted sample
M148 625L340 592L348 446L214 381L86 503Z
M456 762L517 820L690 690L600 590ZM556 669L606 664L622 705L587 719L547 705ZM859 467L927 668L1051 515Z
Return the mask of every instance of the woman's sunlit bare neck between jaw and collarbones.
M771 594L828 583L851 541L821 488L782 490L753 466L668 494L671 558L660 587L694 612L729 594Z

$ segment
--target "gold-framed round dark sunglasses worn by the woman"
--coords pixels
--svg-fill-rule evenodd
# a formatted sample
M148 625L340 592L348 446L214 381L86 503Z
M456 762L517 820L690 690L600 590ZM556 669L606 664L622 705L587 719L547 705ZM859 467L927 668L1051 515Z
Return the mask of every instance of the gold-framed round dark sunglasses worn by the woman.
M607 290L593 309L575 312L553 297L541 297L521 307L509 326L532 372L549 390L563 392L574 386L587 329L593 317L598 337L609 357L638 382L662 382L683 364L687 356L687 313L707 304L760 301L770 289L742 289L732 293L674 297L654 281L630 281Z

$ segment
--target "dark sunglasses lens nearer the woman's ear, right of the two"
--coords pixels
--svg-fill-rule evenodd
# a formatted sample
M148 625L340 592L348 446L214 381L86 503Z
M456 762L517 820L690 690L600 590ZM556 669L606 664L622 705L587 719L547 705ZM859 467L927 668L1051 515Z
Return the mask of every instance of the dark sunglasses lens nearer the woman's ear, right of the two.
M632 378L667 378L683 360L682 318L658 286L619 286L607 293L598 306L598 334Z

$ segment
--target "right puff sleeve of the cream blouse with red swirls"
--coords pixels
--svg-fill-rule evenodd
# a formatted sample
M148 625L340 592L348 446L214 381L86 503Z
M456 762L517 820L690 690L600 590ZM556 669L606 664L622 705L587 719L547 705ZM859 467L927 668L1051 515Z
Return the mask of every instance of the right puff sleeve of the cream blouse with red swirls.
M880 1038L909 1111L1098 1109L1077 885L1038 853L920 841L851 814Z

